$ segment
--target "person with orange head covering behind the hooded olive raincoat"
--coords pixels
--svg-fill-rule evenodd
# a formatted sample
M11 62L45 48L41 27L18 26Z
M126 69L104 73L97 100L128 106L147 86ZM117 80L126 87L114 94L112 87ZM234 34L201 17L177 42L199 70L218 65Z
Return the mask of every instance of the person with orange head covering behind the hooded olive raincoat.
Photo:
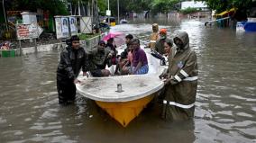
M155 50L159 52L161 55L165 53L164 42L166 40L170 40L169 38L167 38L167 30L160 29L160 39L156 41Z

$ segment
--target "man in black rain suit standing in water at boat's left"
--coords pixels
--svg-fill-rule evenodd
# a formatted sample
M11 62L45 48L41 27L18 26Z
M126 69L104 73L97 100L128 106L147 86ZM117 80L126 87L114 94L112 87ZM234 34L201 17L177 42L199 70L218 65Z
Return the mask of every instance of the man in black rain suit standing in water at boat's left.
M78 36L72 36L69 42L68 47L60 53L57 68L57 90L60 104L68 104L75 101L77 91L75 84L79 83L77 77L81 68L83 76L87 76L87 54L80 47Z

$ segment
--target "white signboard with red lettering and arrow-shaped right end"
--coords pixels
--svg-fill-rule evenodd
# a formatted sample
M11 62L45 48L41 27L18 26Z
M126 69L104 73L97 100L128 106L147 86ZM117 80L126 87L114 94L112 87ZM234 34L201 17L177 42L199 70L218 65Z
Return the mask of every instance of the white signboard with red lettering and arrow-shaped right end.
M35 23L32 24L16 24L16 32L18 40L36 39L40 36L42 29Z

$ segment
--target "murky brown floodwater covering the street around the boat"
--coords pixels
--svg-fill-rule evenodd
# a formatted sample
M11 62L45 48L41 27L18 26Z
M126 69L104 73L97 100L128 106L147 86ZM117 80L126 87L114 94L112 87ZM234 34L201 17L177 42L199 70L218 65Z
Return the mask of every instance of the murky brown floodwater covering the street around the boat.
M173 38L187 31L197 51L199 81L193 121L162 121L155 107L123 128L91 100L77 95L60 106L59 52L0 58L1 142L256 142L256 33L205 27L197 20L160 22ZM142 42L151 22L115 26Z

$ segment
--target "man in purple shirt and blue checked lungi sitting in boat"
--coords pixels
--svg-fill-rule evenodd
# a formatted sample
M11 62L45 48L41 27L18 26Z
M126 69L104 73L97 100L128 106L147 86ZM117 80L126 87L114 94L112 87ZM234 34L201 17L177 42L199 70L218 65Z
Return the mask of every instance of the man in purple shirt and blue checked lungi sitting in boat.
M133 39L133 62L130 68L131 75L142 75L149 72L148 58L140 46L140 40Z

